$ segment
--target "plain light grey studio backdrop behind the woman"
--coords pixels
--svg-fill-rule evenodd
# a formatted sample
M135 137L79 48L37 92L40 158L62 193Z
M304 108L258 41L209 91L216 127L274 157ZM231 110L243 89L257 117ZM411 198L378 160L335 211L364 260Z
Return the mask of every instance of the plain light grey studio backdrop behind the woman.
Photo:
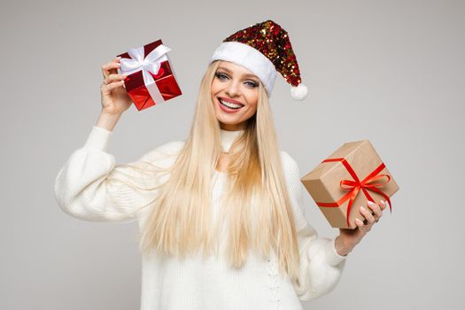
M334 291L306 309L461 309L465 205L463 1L5 1L1 26L1 309L138 309L136 222L63 213L53 183L100 111L100 68L162 39L182 96L114 128L117 163L188 136L198 87L228 35L273 19L289 32L308 97L281 75L271 106L303 176L369 139L399 183L349 254ZM309 195L306 218L336 236Z

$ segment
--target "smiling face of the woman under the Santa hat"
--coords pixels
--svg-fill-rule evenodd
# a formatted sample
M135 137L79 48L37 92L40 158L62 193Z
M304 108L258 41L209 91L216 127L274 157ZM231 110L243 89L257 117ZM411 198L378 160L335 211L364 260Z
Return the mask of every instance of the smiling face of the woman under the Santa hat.
M244 129L257 112L260 80L244 66L221 61L212 81L211 94L221 129ZM228 105L228 106L226 106Z

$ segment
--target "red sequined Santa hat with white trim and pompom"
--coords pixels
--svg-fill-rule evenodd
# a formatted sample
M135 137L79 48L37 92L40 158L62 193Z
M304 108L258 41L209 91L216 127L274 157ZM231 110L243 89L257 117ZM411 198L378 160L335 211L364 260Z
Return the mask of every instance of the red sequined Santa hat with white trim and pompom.
M306 97L306 85L301 83L300 71L288 33L273 20L266 20L229 35L214 50L210 63L225 60L244 66L260 78L268 97L279 72L291 84L291 97Z

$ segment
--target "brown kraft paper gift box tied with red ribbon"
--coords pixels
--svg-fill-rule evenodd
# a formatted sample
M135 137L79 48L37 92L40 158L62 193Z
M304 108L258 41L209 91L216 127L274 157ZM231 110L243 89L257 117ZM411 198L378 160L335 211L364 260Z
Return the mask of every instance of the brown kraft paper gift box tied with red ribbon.
M387 167L368 140L344 143L300 179L333 228L356 229L365 217L368 200L379 205L399 190ZM384 209L384 211L387 209Z

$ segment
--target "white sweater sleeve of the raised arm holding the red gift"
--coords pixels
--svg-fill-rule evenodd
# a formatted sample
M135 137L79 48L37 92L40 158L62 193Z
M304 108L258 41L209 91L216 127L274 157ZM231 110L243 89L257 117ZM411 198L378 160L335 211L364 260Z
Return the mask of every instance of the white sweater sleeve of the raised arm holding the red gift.
M166 143L134 162L117 166L106 151L111 136L111 131L94 126L86 143L59 170L55 198L65 213L84 221L135 221L159 191L150 190L159 180L148 169L153 171L154 163L163 164L182 145Z

